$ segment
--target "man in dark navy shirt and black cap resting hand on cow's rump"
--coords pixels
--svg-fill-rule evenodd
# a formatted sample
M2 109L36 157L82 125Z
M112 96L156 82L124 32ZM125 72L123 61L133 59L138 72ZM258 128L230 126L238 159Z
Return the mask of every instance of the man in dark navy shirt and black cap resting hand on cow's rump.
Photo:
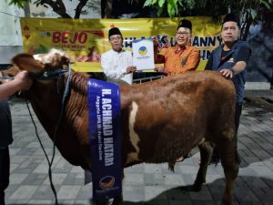
M236 88L235 127L238 131L239 118L242 111L245 88L245 68L251 50L245 41L239 40L240 25L235 15L229 14L224 18L221 29L223 44L212 51L206 70L215 70L224 77L231 78ZM219 161L218 151L214 149L211 163Z

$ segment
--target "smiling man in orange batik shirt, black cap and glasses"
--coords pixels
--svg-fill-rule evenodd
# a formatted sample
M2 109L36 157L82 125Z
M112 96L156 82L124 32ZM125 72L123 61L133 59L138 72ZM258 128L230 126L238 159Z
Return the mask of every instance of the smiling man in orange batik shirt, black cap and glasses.
M158 42L154 40L155 62L164 63L164 67L156 67L157 72L167 76L175 76L187 71L194 71L200 61L200 52L190 45L192 24L183 19L177 26L176 46L163 48L158 54Z

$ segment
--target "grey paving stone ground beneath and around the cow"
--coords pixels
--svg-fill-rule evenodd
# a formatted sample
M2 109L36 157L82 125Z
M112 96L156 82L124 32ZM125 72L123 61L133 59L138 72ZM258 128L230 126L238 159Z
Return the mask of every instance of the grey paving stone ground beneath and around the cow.
M6 204L54 204L47 177L48 165L35 136L26 105L11 101L14 143L10 146L11 176ZM33 112L33 111L32 111ZM35 118L35 116L34 116ZM53 144L35 118L45 151ZM244 108L238 131L241 165L234 186L235 205L273 204L273 113ZM223 169L210 165L207 184L200 192L189 191L197 175L199 153L177 163L175 172L167 164L139 164L125 170L125 205L217 205L225 188ZM56 150L53 181L59 204L92 204L92 185L84 185L85 173L71 166Z

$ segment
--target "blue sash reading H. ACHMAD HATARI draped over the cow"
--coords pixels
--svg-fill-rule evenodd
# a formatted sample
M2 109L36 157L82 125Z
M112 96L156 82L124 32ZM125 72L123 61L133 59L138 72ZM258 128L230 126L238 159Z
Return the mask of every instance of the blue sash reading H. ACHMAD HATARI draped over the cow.
M95 79L87 87L93 198L110 199L122 192L119 87Z

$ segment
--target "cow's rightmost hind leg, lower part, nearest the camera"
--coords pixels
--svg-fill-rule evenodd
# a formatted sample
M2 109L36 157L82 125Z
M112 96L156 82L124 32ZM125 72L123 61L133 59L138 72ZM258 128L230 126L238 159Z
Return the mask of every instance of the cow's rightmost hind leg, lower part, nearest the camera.
M240 159L237 150L237 139L227 139L225 143L218 145L222 167L226 177L226 189L222 199L222 205L233 204L233 183L238 176Z

